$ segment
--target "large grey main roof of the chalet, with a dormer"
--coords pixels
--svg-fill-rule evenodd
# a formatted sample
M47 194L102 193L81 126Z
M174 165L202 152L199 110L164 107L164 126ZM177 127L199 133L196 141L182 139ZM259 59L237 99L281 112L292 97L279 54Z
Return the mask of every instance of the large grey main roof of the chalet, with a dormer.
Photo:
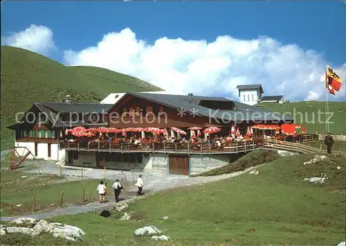
M215 117L223 119L224 121L253 121L260 120L261 118L266 119L266 121L277 120L273 117L272 112L265 109L260 109L258 107L253 107L251 105L246 105L244 103L239 103L234 100L227 98L217 98L217 97L207 97L207 96L178 96L170 94L145 94L145 93L134 93L128 92L125 96L131 95L138 98L143 98L150 100L154 103L165 105L167 107L172 107L174 109L185 109L186 112L197 112L197 116ZM235 104L235 109L233 110L217 110L209 109L208 107L202 107L199 104L201 100L219 100L219 101L229 101ZM190 103L191 101L191 103ZM118 102L120 103L120 101ZM116 103L117 104L117 103ZM282 116L275 114L276 117ZM291 117L286 116L286 120L292 120Z

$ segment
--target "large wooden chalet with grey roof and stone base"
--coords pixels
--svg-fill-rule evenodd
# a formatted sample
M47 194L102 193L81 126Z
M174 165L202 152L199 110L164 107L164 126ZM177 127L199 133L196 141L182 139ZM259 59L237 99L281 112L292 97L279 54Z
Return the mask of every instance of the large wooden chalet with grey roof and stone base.
M16 131L16 145L26 146L35 153L36 157L58 160L65 158L66 164L75 166L153 170L180 175L201 173L211 168L225 166L234 155L254 150L259 144L251 141L217 149L210 146L210 143L199 145L143 143L132 148L129 143L58 141L58 135L60 130L75 126L84 126L84 128L104 126L118 129L161 128L167 129L168 135L174 134L169 131L170 128L180 128L190 132L188 128L191 127L216 126L221 128L221 132L217 135L227 136L231 126L236 123L242 134L246 134L249 125L274 123L273 121L277 120L293 122L289 117L277 119L272 112L227 98L192 94L179 96L126 93L114 105L71 103L70 100L66 100L65 103L35 103L29 112L35 116L38 116L39 112L46 112L48 119L46 123L38 121L29 123L30 117L24 117L28 120L9 128ZM95 118L98 116L100 121L95 123ZM275 116L277 117L277 114ZM77 121L78 119L82 121ZM54 150L53 146L48 147L48 144L54 144Z

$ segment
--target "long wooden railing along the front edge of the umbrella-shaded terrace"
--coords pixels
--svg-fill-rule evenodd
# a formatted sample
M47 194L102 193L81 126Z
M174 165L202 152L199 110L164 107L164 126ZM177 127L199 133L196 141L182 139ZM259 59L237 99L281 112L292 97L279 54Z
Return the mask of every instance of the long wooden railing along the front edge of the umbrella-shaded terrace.
M60 141L59 148L98 152L163 152L194 153L201 155L219 153L248 152L262 147L262 139L225 143L218 147L215 143L108 143L108 142L69 142Z

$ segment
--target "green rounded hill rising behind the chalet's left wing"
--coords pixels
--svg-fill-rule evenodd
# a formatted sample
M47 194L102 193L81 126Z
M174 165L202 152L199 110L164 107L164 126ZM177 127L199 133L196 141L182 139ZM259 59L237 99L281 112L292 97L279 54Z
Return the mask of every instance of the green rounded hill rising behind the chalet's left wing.
M15 114L35 102L54 102L70 94L75 102L99 102L110 92L158 91L154 85L97 67L65 67L43 55L1 46L1 150L13 144Z

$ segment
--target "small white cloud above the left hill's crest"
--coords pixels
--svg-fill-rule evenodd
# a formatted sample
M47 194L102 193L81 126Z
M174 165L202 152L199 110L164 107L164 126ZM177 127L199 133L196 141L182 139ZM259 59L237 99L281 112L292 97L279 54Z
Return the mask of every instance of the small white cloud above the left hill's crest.
M2 45L19 47L42 55L47 55L49 51L56 49L53 41L53 31L46 26L34 24L19 33L10 33L8 36L1 37L1 43Z

